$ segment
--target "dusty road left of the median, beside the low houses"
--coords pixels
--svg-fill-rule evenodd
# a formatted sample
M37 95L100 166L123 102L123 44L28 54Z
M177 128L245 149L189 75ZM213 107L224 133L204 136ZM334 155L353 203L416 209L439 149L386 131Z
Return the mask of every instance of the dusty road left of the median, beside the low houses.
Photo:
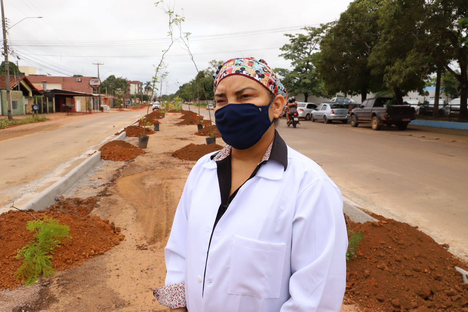
M110 111L1 130L0 213L27 202L145 114Z

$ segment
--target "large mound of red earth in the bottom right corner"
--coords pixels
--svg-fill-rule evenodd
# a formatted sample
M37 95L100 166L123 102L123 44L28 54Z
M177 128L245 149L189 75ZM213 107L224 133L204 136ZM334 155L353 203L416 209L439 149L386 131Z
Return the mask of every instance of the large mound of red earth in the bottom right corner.
M367 312L468 311L468 283L454 268L468 265L417 227L376 218L349 222L349 229L364 232L364 241L357 258L347 261L344 304Z

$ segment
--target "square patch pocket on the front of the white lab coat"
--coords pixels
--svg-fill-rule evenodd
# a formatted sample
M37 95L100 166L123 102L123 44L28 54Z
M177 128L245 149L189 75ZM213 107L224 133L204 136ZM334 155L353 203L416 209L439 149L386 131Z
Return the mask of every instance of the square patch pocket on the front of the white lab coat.
M227 292L279 298L286 243L269 243L234 235Z

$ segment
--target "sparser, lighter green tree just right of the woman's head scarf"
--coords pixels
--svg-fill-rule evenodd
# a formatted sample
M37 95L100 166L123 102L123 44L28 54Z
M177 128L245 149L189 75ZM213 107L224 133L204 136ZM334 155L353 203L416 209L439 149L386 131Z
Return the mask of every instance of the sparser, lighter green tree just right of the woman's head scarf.
M304 27L305 34L285 34L289 44L280 48L279 56L291 61L291 68L276 68L275 72L282 76L281 82L291 95L304 94L307 102L309 95L323 95L322 80L320 80L314 65L319 50L319 44L329 24L320 27Z

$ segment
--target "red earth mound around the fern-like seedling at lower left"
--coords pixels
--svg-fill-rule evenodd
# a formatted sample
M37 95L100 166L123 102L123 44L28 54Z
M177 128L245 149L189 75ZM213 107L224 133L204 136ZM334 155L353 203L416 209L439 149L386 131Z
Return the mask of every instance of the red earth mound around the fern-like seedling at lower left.
M95 198L67 198L43 211L29 210L38 220L47 215L55 218L61 225L68 225L71 239L62 242L54 249L52 267L64 270L81 265L88 258L103 254L106 250L120 244L124 234L114 222L90 215ZM0 215L0 290L20 286L13 274L22 261L16 259L16 250L21 249L33 239L33 233L26 229L26 223L34 218L25 211L10 210Z

